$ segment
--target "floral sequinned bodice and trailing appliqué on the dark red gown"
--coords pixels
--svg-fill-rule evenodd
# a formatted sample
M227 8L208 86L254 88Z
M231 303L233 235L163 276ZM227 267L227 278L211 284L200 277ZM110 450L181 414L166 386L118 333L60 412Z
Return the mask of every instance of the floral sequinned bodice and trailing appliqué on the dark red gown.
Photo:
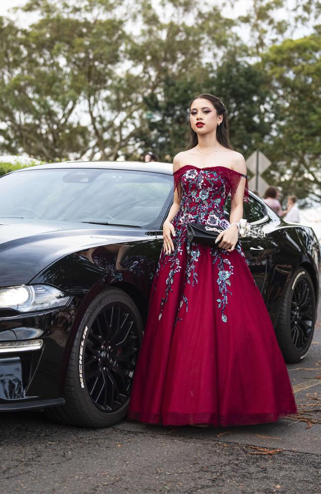
M188 312L188 299L184 293L186 283L192 287L198 284L197 264L201 257L201 252L197 244L191 244L187 236L187 223L190 221L227 228L229 221L224 217L224 205L228 195L232 198L236 192L241 177L245 177L244 202L248 202L248 183L247 175L231 170L223 166L198 168L193 165L184 165L174 173L174 186L178 187L181 180L182 198L178 212L172 220L175 228L175 237L172 237L174 251L171 254L165 254L161 251L160 260L155 272L158 277L162 268L169 263L169 272L166 279L166 288L163 297L161 298L161 306L159 320L162 316L163 308L166 304L170 291L173 291L175 274L182 269L181 259L184 249L186 249L187 260L185 267L185 281L182 290L182 297L179 303L178 313L175 320L181 321L180 311ZM213 264L217 263L219 288L219 298L216 299L217 307L221 309L221 319L227 322L225 308L228 304L228 296L232 295L231 277L233 276L234 266L230 261L229 255L233 252L228 252L226 249L210 247L211 258ZM240 243L235 247L235 251L243 257L244 253ZM224 255L223 255L224 254ZM155 284L155 289L157 288Z

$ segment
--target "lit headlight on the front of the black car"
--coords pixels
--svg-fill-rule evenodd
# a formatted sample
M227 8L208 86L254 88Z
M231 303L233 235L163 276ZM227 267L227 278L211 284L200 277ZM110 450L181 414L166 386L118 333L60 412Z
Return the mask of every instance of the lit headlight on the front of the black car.
M33 312L67 305L71 297L49 285L0 288L0 309Z

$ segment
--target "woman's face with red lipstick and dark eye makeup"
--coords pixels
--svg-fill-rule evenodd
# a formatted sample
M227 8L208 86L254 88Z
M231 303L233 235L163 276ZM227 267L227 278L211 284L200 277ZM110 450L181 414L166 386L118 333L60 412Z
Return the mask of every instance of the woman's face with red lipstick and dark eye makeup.
M216 130L217 124L222 122L223 116L217 115L216 109L208 99L195 99L191 105L190 122L193 130L198 134ZM202 123L203 125L197 125Z

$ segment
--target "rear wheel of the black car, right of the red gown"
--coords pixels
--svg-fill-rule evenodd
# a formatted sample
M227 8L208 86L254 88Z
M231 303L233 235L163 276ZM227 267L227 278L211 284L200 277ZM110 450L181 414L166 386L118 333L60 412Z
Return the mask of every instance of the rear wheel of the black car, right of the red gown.
M308 353L316 323L316 297L307 270L298 268L286 288L276 326L285 362L296 364Z

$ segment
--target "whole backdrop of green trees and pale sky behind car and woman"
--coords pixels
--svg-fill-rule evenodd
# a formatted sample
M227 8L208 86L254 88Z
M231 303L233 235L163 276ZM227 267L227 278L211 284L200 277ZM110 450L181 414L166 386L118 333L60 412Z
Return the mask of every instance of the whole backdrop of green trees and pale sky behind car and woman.
M232 19L222 13L230 0L161 0L157 10L151 0L27 1L31 26L0 17L0 152L48 162L153 149L171 161L185 148L190 101L209 92L228 109L234 149L273 162L268 183L317 197L320 4L297 3L285 18L283 0L250 0ZM314 34L290 39L309 22Z

